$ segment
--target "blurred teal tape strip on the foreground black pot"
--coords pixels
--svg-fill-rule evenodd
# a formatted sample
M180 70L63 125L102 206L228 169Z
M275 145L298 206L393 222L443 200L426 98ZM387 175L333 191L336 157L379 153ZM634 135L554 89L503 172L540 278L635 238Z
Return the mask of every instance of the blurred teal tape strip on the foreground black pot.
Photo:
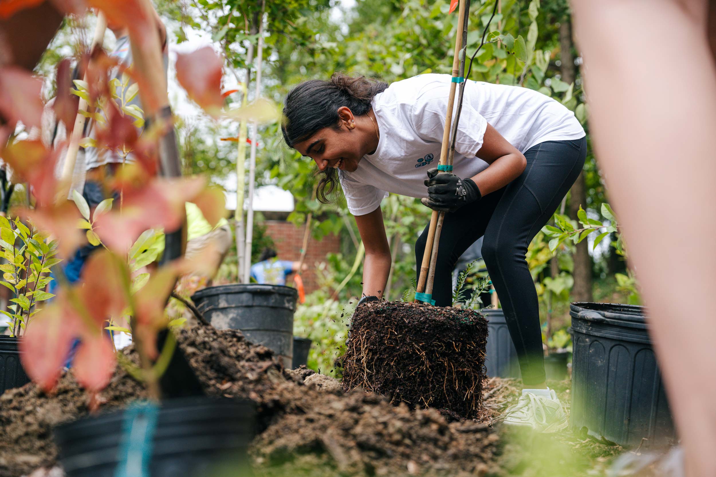
M159 407L138 403L125 410L115 477L149 477Z

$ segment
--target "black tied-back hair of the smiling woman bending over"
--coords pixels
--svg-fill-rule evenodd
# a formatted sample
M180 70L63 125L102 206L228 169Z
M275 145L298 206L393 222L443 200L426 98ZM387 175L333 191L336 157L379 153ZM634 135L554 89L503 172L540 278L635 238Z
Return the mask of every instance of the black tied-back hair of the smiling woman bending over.
M289 147L308 139L324 127L339 128L339 107L348 107L354 116L367 114L373 97L384 92L388 84L364 76L350 77L334 73L329 81L310 79L286 95L281 132ZM319 174L319 172L316 172ZM338 169L327 167L316 187L316 197L327 204L338 185Z

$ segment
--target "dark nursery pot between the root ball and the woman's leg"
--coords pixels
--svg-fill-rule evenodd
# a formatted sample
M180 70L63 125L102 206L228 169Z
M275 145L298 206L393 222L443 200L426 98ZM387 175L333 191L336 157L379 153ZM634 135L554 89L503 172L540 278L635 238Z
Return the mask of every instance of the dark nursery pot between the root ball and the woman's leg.
M517 350L507 329L502 308L480 310L488 320L488 343L485 348L485 368L490 378L519 378L520 363Z

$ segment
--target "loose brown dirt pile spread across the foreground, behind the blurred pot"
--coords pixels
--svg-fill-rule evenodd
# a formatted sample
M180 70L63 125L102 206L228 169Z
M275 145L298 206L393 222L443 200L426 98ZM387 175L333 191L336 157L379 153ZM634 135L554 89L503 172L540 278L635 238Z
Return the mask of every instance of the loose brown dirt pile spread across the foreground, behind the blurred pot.
M494 461L497 436L473 421L448 423L437 410L397 408L386 398L344 394L331 378L288 371L238 331L196 327L178 343L208 395L242 397L258 408L251 455L258 476L480 475ZM134 350L123 353L135 359ZM308 383L304 383L304 379ZM101 410L145 398L142 386L117 369L102 391ZM52 427L89 412L87 394L62 376L54 395L35 385L0 397L0 477L52 468ZM41 475L41 474L37 474Z

